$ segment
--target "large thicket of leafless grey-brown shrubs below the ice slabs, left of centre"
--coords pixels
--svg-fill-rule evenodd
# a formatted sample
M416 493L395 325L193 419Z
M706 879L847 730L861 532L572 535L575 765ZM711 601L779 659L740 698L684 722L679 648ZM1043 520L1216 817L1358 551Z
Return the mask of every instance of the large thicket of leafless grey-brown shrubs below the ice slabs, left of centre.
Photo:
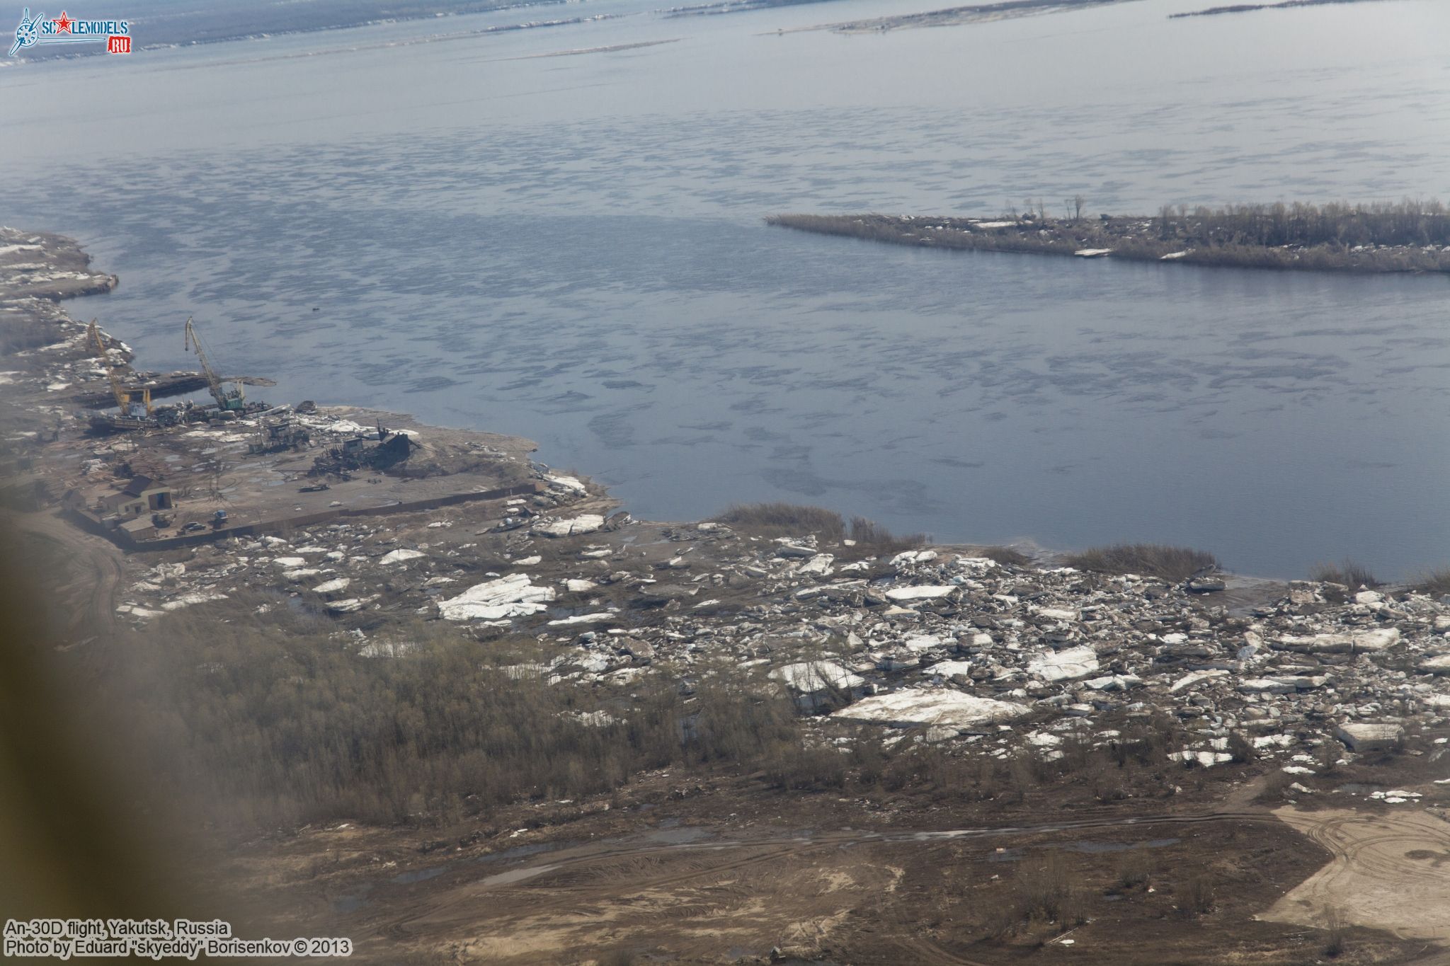
M96 652L110 671L94 710L128 721L115 757L225 831L457 820L519 798L609 792L666 765L777 759L802 782L841 782L834 759L800 750L779 689L745 682L686 701L661 682L602 707L496 663L500 650L539 662L532 639L419 627L409 649L365 658L331 627L273 611L225 624L178 614ZM262 623L273 617L289 633Z

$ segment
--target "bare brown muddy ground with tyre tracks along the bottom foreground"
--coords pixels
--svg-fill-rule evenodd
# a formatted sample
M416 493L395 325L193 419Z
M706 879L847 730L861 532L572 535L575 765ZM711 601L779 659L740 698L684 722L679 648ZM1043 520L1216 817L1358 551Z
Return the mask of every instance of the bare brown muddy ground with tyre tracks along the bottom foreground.
M1324 912L1346 901L1334 962L1444 960L1427 930L1446 937L1436 863L1450 824L1391 808L1276 815L1256 791L1224 778L1148 808L1064 811L1041 789L1008 812L655 773L489 823L309 828L225 863L258 927L351 936L360 962L748 963L774 949L829 963L1308 963L1330 962ZM1360 826L1380 843L1369 866ZM1356 881L1320 885L1347 862ZM1082 925L1015 921L1043 868ZM1356 924L1380 908L1367 891L1401 895L1406 875L1436 891L1402 894L1388 930Z

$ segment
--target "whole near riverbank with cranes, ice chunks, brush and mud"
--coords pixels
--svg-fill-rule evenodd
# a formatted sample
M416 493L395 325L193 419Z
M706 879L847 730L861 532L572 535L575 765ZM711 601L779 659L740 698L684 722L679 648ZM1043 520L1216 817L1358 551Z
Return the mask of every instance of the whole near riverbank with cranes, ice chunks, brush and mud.
M0 265L0 317L52 326L3 388L22 413L4 518L57 626L35 646L123 715L116 760L204 815L210 847L246 841L219 863L248 934L351 936L360 962L583 962L609 923L608 944L683 962L999 963L1066 938L1135 962L1151 930L1156 954L1269 960L1318 910L1254 917L1328 859L1270 807L1450 808L1444 600L1074 569L809 508L639 521L528 440L306 401L97 436L65 401L104 382L86 327L58 293L7 291ZM407 500L484 476L531 492ZM117 553L59 510L158 487L167 532L218 508L280 523ZM1064 811L1082 824L1022 820ZM960 831L990 827L1015 831ZM815 847L838 828L867 834ZM652 852L695 840L703 859ZM1022 883L1051 856L1073 905L1044 915ZM1364 962L1450 940L1376 931L1408 862L1327 899Z

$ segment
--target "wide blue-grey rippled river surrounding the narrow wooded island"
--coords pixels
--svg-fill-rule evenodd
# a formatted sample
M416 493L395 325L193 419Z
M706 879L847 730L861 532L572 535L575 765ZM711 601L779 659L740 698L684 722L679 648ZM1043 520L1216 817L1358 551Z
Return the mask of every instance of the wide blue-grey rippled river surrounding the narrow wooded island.
M1450 4L792 32L937 6L590 0L0 70L0 219L122 277L72 314L144 366L187 364L194 313L271 400L529 436L637 516L790 500L1264 575L1450 562L1444 278L761 222L1450 198Z

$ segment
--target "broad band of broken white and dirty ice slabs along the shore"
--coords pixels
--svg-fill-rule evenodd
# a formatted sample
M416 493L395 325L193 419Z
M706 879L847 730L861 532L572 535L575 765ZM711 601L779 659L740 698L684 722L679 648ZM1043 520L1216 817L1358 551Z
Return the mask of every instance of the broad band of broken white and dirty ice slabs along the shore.
M870 723L999 755L1051 757L1077 734L1111 737L1099 718L1163 711L1193 736L1174 752L1185 763L1272 759L1308 775L1450 715L1446 600L1292 582L1228 607L1185 584L948 547L873 555L638 523L580 511L597 498L589 484L534 472L542 494L486 511L175 552L119 610L144 621L265 589L255 608L331 616L367 653L406 647L406 621L439 620L535 637L552 658L519 673L621 702L647 675L689 689L740 673L789 688L824 727Z

